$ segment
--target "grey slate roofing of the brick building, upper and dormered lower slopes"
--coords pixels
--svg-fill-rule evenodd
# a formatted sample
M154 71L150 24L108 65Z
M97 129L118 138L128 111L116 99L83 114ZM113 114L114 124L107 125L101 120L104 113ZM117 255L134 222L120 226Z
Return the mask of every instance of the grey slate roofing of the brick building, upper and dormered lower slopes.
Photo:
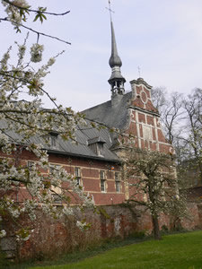
M111 100L109 100L98 106L84 110L83 114L85 114L87 119L95 120L102 123L104 126L124 130L127 127L127 106L131 96L132 92L128 92L122 96L122 99L116 106L112 106ZM71 141L64 141L62 138L58 137L57 147L44 144L44 148L47 149L48 152L66 154L69 156L120 162L119 157L111 151L116 143L117 134L111 134L109 128L101 128L101 130L92 128L90 122L88 120L86 121L87 126L77 126L75 137L78 143L75 144ZM4 126L6 129L4 122L1 121L0 125ZM13 131L8 131L6 133L15 141L21 141L20 134L16 134ZM103 144L103 156L98 156L92 151L89 147L89 141L101 142ZM43 140L39 136L32 137L31 142L43 144Z

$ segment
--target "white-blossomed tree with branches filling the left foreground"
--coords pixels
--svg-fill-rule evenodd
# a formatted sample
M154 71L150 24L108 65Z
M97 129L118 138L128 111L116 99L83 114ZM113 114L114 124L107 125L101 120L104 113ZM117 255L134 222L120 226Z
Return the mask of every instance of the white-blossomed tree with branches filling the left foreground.
M34 22L43 22L47 15L64 15L68 12L48 13L44 7L34 10L25 0L2 0L1 3L6 16L0 18L0 21L12 23L17 32L25 28L36 33L37 42L31 46L28 56L27 36L22 44L16 43L16 63L11 59L12 47L8 48L0 61L0 150L1 156L4 156L0 159L0 221L4 216L9 216L16 225L20 225L18 218L25 214L31 221L35 221L38 209L54 218L73 214L69 206L71 195L77 194L77 197L82 199L82 204L89 206L93 204L92 198L83 193L83 188L77 185L77 181L65 169L52 165L50 169L48 152L45 149L49 143L48 134L52 132L57 132L64 140L76 142L76 126L82 125L84 120L81 114L76 114L71 108L57 105L56 100L43 89L43 79L60 54L51 57L48 63L40 65L44 47L39 44L39 38L40 35L51 39L58 38L26 26L31 13L34 13ZM41 97L44 95L52 101L54 108L42 107ZM31 167L21 162L24 152L31 152L37 158ZM46 171L46 174L43 171ZM63 187L64 182L66 187ZM59 192L56 191L57 188L60 189ZM21 203L17 203L16 195L21 193L22 189L26 190L26 195ZM73 192L70 192L70 189ZM56 195L61 201L60 211L54 206ZM77 221L77 225L84 228L86 223ZM29 229L19 226L16 237L29 239ZM0 230L0 237L5 235L5 230Z

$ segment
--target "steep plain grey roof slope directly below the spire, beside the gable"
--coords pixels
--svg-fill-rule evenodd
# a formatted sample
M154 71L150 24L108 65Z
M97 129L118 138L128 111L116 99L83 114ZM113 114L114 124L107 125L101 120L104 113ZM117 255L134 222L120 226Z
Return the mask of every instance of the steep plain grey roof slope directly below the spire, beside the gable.
M113 106L111 100L102 103L93 108L88 108L83 111L83 114L88 119L97 121L105 126L119 128L124 130L127 128L128 118L128 101L132 98L132 92L127 92L122 96L117 106Z

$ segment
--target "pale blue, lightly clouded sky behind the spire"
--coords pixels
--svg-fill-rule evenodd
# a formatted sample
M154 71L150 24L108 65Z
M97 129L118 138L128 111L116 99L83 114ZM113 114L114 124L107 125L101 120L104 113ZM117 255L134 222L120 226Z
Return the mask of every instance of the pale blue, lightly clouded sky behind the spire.
M32 8L47 6L48 12L65 16L48 16L48 21L28 22L70 45L40 37L44 44L44 63L57 58L45 79L44 89L57 98L57 103L82 111L110 100L110 13L108 0L27 0ZM111 0L111 9L121 73L130 81L140 76L154 87L188 94L202 87L202 1L201 0ZM0 5L0 17L4 8ZM32 16L33 19L33 16ZM0 23L0 56L13 45L22 43L26 30L15 34L7 22ZM28 45L36 42L30 34ZM13 55L13 58L15 56ZM50 107L48 100L44 104Z

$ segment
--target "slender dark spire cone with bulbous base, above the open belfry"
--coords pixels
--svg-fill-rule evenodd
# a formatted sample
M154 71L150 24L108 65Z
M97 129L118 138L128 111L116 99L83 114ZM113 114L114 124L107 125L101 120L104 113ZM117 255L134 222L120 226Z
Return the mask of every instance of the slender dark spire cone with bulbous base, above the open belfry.
M109 64L111 68L113 68L114 66L120 67L122 65L122 62L117 50L117 43L115 39L114 26L112 21L110 21L110 28L111 28L111 56Z

